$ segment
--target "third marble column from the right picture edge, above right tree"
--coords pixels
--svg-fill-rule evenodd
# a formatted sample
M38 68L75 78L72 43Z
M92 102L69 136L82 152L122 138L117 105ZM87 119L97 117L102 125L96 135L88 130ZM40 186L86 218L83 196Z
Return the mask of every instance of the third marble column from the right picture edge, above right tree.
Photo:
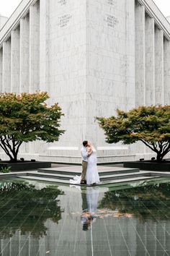
M146 14L146 106L155 103L155 50L154 20Z

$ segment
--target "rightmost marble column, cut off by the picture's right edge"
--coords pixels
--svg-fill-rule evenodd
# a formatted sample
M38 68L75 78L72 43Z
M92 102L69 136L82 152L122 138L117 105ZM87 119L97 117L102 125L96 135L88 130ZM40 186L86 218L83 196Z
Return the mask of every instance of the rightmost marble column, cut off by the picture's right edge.
M170 103L170 41L164 39L164 104Z

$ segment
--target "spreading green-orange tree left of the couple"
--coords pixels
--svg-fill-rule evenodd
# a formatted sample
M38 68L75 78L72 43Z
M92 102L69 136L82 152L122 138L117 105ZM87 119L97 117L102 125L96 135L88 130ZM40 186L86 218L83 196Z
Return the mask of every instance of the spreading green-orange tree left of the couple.
M58 103L48 107L48 98L47 93L0 94L0 147L10 161L17 162L22 142L54 142L63 134L61 108Z

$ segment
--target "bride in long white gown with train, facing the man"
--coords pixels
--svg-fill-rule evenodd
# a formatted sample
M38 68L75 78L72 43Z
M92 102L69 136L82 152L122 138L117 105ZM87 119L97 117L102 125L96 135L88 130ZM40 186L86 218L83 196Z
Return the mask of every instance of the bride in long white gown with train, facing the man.
M88 141L86 151L88 153L88 162L86 168L86 184L94 185L99 183L99 174L97 171L97 150L91 146L91 143ZM75 176L73 179L70 179L71 184L80 184L81 176Z

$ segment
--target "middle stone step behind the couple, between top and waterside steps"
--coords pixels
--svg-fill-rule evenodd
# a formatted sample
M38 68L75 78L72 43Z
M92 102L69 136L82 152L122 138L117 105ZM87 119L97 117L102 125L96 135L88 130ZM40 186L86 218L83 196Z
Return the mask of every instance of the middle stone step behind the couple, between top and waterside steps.
M130 178L130 177L137 177L137 176L148 176L149 173L148 171L140 171L137 173L128 173L128 174L111 174L111 175L100 175L99 173L99 177L101 181L104 180L113 180L113 179L126 179L126 178ZM66 174L51 174L48 172L27 172L27 176L40 176L43 178L49 178L49 179L63 179L63 180L69 180L69 179L73 179L73 174L72 175L66 175Z

